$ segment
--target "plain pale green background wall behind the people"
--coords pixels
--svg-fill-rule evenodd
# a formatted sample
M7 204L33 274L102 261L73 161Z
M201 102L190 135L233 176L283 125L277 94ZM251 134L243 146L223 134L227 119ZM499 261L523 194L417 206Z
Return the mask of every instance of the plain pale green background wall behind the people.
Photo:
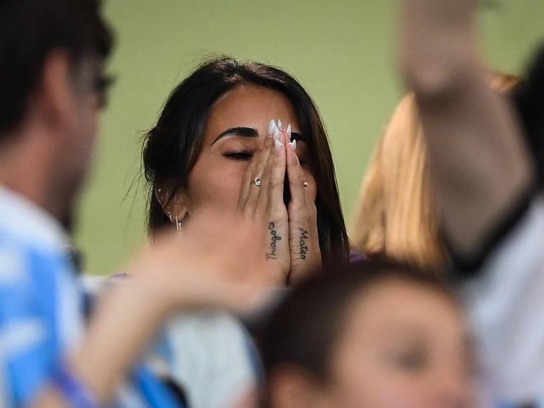
M143 131L175 85L206 56L278 65L308 89L329 131L349 222L362 174L403 92L395 75L396 0L107 0L118 81L103 115L76 243L91 274L120 272L146 239L139 175ZM544 40L544 2L481 1L489 65L519 73Z

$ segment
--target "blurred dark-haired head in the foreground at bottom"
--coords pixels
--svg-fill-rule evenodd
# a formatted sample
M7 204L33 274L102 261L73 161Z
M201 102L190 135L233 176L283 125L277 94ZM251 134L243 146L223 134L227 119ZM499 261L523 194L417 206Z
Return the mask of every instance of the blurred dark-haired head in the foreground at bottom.
M296 286L260 338L263 406L472 407L462 309L432 274L361 262Z

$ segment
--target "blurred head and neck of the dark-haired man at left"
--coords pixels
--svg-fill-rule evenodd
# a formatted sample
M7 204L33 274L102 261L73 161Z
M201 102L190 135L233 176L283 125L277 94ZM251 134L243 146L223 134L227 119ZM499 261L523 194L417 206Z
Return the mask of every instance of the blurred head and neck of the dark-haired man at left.
M0 4L0 182L67 228L98 131L111 42L97 0Z

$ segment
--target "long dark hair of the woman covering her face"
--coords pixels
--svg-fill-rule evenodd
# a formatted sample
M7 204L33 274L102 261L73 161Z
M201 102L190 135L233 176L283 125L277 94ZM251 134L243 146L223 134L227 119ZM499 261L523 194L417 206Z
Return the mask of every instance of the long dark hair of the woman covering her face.
M208 60L179 84L168 98L157 124L144 139L142 161L148 182L148 231L152 235L170 224L155 196L156 186L172 186L167 201L187 188L189 174L203 145L208 113L213 103L241 84L255 84L286 96L308 138L312 169L317 181L317 230L322 260L347 260L349 241L327 132L310 95L286 72L234 58Z

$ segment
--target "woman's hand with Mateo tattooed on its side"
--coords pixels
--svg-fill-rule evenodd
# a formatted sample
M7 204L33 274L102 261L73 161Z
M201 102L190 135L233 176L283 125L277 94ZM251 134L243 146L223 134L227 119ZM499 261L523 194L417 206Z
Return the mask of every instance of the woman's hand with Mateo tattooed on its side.
M291 140L290 126L284 136L287 141ZM291 191L291 201L287 209L291 254L289 281L296 281L321 267L321 250L317 233L317 210L313 198L307 193L309 181L305 180L301 162L296 155L296 140L286 144L285 151Z

